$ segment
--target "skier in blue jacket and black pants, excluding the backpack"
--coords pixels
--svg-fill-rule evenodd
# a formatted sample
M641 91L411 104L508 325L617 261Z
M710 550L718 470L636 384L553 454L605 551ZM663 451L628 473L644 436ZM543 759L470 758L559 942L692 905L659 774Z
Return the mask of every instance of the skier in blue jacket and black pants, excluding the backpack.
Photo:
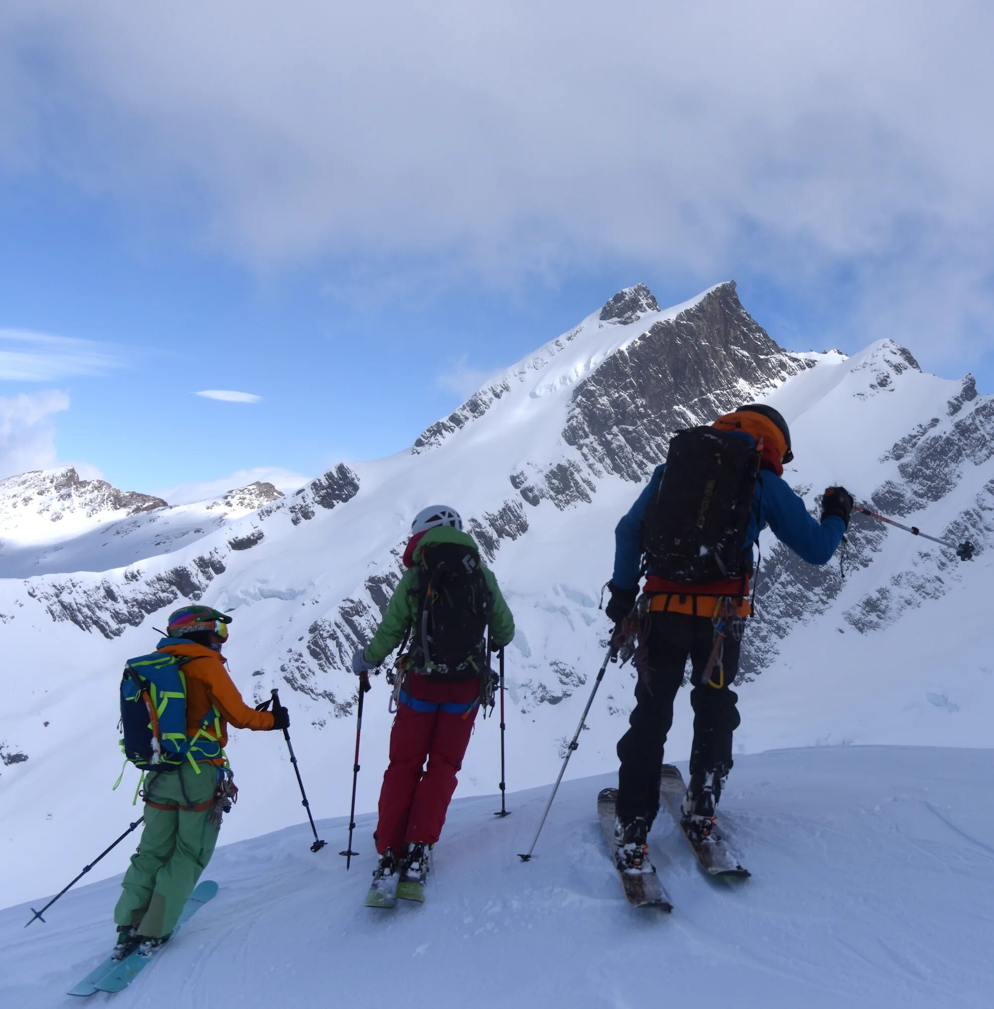
M760 446L760 472L743 553L745 570L752 570L753 544L763 529L786 544L802 560L825 564L832 559L849 525L852 495L844 487L829 487L822 498L820 521L815 521L783 479L783 464L793 459L790 432L781 415L770 407L751 404L720 418L712 425ZM643 560L642 526L659 493L665 465L657 467L649 484L615 531L615 571L610 583L610 620L621 624L635 608ZM684 821L700 836L715 822L714 807L722 784L732 769L732 737L740 723L735 681L741 644L741 621L751 611L748 576L711 582L668 581L651 567L645 583L648 595L640 612L639 681L629 731L618 744L621 760L617 814L619 840L633 865L648 851L646 836L659 811L660 767L666 736L673 722L673 701L683 682L686 661L692 668L690 704L694 737L690 753L690 783L681 810ZM721 613L736 633L724 637L721 675L708 670L715 651L715 618ZM737 625L737 627L736 627ZM706 679L702 676L707 672Z

